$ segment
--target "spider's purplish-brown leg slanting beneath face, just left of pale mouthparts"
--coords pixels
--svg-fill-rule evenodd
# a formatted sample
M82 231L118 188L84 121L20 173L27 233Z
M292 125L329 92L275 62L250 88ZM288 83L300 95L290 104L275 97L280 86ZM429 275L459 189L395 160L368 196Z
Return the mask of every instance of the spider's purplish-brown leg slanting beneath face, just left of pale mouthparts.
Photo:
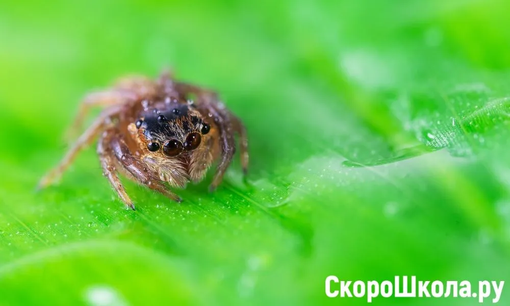
M179 196L171 192L161 182L161 180L159 180L157 173L150 172L147 164L131 153L129 147L127 147L126 143L118 133L116 133L116 136L112 137L110 147L112 148L113 154L119 161L120 165L122 165L127 172L131 173L137 181L152 190L162 193L171 200L182 202L182 199Z

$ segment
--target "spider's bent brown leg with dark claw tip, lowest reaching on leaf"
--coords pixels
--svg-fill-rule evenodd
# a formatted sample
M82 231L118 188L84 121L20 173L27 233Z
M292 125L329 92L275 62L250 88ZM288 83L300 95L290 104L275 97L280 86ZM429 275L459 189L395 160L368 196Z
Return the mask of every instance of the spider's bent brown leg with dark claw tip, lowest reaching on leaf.
M112 185L115 192L119 195L122 202L125 204L126 208L131 208L135 210L135 205L129 195L120 182L119 176L117 174L117 169L115 169L115 163L112 158L112 150L109 149L109 142L111 137L114 135L112 130L108 130L104 133L103 136L99 139L97 144L97 154L99 155L99 161L101 162L101 167L103 168L104 175Z

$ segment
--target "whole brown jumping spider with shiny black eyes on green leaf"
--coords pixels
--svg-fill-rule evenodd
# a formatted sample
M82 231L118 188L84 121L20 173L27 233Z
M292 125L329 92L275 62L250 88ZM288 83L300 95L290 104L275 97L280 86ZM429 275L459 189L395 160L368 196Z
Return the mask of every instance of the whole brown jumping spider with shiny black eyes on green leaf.
M191 98L194 100L191 100ZM70 131L80 129L91 107L103 112L69 149L60 164L39 183L55 182L78 153L97 136L97 154L104 175L127 208L135 205L118 174L156 190L168 198L182 199L168 189L200 182L219 160L209 190L221 183L230 165L239 134L241 165L248 166L248 142L241 120L228 111L216 93L175 81L169 73L157 80L145 77L120 79L105 91L89 94Z

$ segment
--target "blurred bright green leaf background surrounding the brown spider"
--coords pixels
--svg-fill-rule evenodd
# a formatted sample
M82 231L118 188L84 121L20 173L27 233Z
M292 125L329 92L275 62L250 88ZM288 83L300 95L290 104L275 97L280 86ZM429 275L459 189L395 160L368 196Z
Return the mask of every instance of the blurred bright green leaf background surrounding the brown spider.
M3 1L0 304L365 304L324 279L510 275L510 3ZM80 98L129 73L216 89L248 129L182 205L101 176L59 186ZM356 167L352 167L356 166ZM501 304L510 303L503 289ZM469 305L477 299L385 299Z

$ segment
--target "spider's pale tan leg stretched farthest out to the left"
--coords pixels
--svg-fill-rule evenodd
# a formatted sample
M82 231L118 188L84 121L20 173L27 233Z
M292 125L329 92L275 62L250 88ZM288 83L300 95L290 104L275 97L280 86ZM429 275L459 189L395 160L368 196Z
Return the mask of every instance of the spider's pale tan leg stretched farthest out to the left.
M92 123L91 126L78 138L78 140L74 143L74 145L67 151L66 155L57 167L53 170L50 170L46 175L42 177L39 181L38 189L42 189L47 187L50 184L53 184L59 177L64 173L64 171L69 167L69 165L74 161L74 159L78 156L78 153L86 148L94 138L101 132L103 132L108 124L110 124L110 117L118 113L120 108L112 107L106 109L99 115L99 117Z

